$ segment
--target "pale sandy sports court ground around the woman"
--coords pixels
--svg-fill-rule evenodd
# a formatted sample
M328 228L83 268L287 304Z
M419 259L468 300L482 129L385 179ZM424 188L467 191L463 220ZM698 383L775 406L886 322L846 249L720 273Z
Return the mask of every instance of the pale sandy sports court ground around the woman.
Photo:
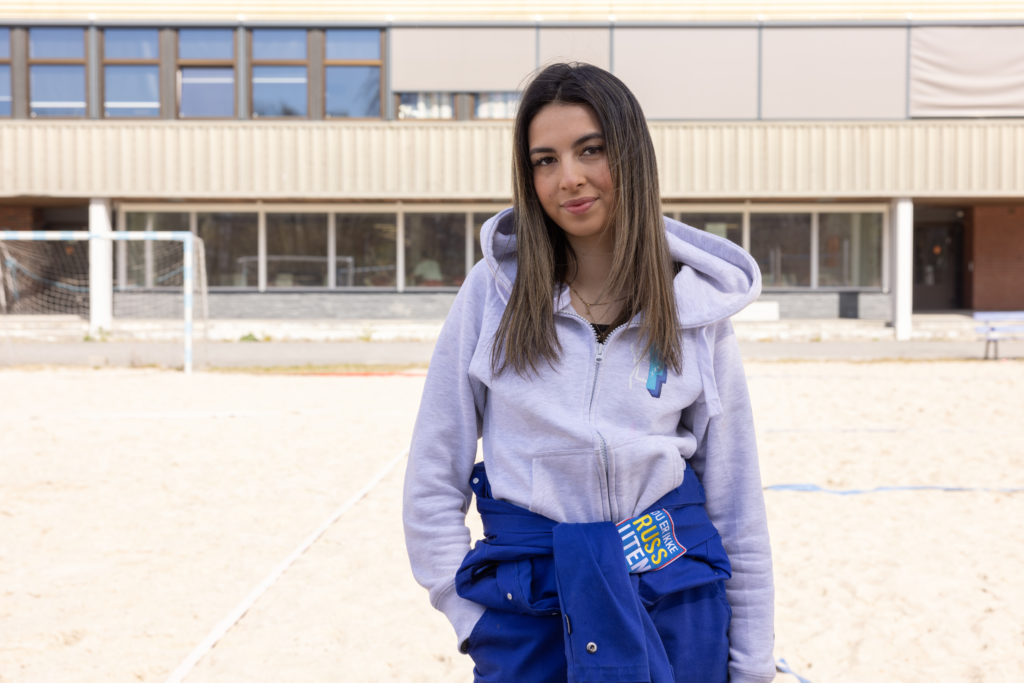
M766 492L776 655L815 683L1024 680L1024 362L748 374L766 484L974 489ZM468 682L388 469L422 384L0 370L0 681L167 680L351 504L183 680Z

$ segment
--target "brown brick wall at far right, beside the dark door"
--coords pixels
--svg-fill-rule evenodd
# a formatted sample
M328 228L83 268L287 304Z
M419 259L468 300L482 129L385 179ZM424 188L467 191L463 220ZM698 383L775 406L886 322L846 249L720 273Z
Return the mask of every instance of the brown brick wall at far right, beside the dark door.
M1024 204L974 207L972 308L1024 310Z

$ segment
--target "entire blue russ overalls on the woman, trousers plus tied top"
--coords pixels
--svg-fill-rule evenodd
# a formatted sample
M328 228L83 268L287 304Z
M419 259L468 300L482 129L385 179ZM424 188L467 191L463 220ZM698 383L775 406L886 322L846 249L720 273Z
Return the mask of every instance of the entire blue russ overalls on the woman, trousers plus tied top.
M729 560L692 470L644 511L674 527L681 552L639 572L627 560L629 525L650 517L558 523L492 498L482 463L471 483L484 538L463 560L456 590L486 607L463 643L475 681L728 680Z

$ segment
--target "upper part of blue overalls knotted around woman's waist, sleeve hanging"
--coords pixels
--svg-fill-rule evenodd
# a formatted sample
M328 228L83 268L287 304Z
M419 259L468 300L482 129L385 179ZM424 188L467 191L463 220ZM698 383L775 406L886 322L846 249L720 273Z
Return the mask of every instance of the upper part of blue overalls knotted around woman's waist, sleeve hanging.
M569 681L671 680L658 674L671 668L647 610L730 577L692 470L643 514L617 524L559 523L495 500L482 463L471 485L484 538L456 574L460 596L501 611L562 614ZM658 526L671 533L655 535ZM659 551L674 543L670 560Z

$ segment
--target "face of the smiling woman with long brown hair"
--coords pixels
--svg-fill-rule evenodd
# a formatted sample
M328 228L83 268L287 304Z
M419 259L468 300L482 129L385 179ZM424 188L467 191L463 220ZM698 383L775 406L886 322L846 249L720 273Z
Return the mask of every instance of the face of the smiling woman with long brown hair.
M544 105L527 130L534 189L573 249L610 243L615 190L604 135L586 104Z

